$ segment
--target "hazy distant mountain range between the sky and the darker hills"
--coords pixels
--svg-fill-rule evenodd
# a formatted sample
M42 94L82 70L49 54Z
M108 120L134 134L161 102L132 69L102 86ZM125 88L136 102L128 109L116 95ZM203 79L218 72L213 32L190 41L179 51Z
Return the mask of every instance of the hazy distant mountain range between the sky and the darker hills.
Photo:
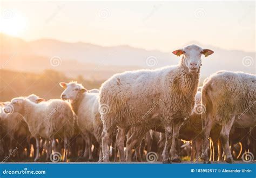
M179 60L171 51L149 51L126 45L105 47L81 42L66 43L54 39L26 42L4 34L0 34L0 40L2 69L30 72L55 69L69 77L82 75L93 80L106 79L114 73L126 70L175 65ZM203 77L218 70L256 73L255 52L231 51L193 43L214 51L212 56L203 58Z

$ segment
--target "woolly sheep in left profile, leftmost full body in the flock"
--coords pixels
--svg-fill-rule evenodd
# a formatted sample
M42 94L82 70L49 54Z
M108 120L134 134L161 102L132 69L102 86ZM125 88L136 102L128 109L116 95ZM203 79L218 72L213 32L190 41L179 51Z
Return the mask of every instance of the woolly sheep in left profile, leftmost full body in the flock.
M28 124L31 135L36 139L36 158L39 160L39 137L51 140L53 151L56 149L56 138L64 140L64 159L68 153L69 138L73 134L73 113L68 102L60 99L35 102L28 98L18 97L11 100L8 107L13 108L13 112L23 115ZM6 113L9 109L4 108ZM53 152L54 153L54 152Z

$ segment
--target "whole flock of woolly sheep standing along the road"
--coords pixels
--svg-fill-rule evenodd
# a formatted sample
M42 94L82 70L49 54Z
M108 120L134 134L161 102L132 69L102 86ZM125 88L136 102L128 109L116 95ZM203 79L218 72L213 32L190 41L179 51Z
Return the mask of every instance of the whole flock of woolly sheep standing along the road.
M1 102L1 161L254 161L256 75L218 71L199 87L213 53L189 45L173 51L178 65L114 74L99 90L59 81L60 99Z

